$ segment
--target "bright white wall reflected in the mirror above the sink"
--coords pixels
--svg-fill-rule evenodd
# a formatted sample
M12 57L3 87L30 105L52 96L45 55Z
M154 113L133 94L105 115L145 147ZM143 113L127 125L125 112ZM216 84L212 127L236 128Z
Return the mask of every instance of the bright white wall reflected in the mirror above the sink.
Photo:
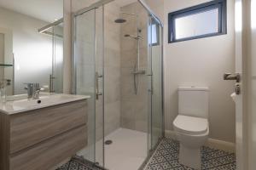
M51 37L38 33L47 22L0 8L0 27L13 31L15 94L26 94L25 82L49 84L52 65Z

